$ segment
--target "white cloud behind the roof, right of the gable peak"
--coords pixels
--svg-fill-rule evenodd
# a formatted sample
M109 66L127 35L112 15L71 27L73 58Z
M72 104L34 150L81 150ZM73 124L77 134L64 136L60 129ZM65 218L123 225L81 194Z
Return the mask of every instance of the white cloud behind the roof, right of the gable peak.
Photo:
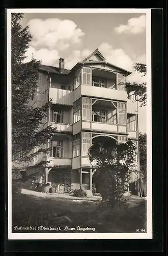
M123 49L114 49L113 46L109 45L107 42L102 42L98 49L108 62L132 72L132 74L127 78L128 81L146 81L146 77L142 77L139 73L133 71L134 63L146 63L145 54L141 56L133 55L130 57L125 53Z

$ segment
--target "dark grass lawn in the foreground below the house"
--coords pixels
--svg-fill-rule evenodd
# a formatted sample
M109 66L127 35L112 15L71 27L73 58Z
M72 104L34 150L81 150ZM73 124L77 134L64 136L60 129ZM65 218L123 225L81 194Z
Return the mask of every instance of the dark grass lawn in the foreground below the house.
M141 202L141 200L140 200ZM65 227L95 228L94 232L136 232L146 229L146 202L131 207L104 209L97 202L75 202L67 198L41 198L33 195L12 196L12 232L35 232L15 230L14 227ZM42 230L36 232L55 232ZM85 232L93 232L85 231Z

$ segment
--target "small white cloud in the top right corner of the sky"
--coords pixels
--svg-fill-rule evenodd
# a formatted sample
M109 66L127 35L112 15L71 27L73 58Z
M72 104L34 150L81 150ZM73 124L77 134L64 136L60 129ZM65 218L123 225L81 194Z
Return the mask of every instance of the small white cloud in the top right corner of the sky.
M130 33L130 34L139 34L143 33L146 30L146 15L141 15L138 18L128 19L127 25L120 25L115 28L115 31L118 34Z

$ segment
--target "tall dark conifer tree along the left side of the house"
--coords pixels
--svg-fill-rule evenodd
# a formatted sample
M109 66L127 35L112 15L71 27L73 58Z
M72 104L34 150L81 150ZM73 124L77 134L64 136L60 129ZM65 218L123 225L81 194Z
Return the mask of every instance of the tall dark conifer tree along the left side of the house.
M32 59L23 63L32 35L29 27L22 28L23 13L12 13L12 170L30 168L31 161L39 154L46 154L47 140L55 133L50 125L43 126L51 102L41 108L29 105L38 87L40 61ZM37 152L34 152L38 147ZM39 167L46 161L36 165Z

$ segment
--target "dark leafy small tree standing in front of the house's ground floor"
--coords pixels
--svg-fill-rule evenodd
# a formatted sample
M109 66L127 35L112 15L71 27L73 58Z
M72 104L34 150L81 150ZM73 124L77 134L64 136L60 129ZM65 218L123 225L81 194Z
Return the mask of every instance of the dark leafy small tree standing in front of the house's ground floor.
M135 168L135 145L130 140L118 144L106 137L95 141L88 155L96 168L102 200L110 206L121 203L128 187L128 171Z

